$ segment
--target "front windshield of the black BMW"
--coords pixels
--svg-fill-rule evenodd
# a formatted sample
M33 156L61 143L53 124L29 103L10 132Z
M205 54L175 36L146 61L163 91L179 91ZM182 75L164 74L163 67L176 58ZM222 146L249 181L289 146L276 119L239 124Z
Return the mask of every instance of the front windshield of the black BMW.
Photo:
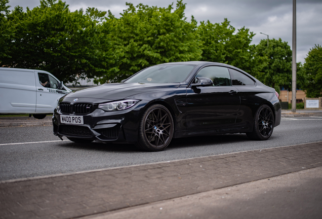
M167 64L148 67L125 83L181 83L195 65Z

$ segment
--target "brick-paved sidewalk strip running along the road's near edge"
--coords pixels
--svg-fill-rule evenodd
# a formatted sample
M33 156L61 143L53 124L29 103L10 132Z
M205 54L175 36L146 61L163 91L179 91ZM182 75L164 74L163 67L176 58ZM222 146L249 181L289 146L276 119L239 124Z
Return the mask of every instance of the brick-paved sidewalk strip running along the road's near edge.
M71 218L322 166L322 142L0 182L0 218Z

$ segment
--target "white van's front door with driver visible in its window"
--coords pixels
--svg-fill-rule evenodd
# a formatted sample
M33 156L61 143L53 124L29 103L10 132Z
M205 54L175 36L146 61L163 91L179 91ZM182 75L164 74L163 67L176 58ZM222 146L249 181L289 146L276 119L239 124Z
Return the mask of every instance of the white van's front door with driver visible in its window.
M37 72L37 77L36 113L53 113L57 99L65 92L58 89L60 82L52 75L45 72Z

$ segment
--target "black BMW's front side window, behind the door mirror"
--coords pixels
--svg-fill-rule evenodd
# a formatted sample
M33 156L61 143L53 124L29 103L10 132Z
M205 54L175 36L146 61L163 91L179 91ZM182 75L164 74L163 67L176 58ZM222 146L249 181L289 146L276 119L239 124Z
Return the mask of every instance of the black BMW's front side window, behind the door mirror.
M221 66L208 66L201 69L196 78L209 78L214 82L214 86L230 86L230 76L228 68Z

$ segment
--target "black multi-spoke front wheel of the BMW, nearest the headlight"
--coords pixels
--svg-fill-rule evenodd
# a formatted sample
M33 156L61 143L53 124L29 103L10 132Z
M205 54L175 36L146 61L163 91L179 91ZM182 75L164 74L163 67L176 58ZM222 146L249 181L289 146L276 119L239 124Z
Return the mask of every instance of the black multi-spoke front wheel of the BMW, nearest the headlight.
M141 118L135 145L144 151L162 151L170 144L173 130L173 119L169 110L161 104L151 105Z

